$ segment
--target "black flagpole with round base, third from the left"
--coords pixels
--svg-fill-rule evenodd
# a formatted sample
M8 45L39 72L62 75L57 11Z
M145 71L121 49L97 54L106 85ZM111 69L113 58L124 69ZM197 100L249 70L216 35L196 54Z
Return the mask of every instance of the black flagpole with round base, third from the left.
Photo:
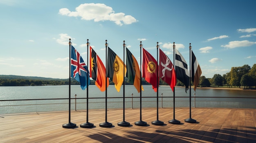
M107 128L107 127L111 127L112 126L112 123L109 123L108 121L107 121L107 119L108 119L108 116L107 116L107 95L108 95L108 93L107 93L107 91L108 91L108 86L107 86L107 80L108 80L108 76L107 76L107 68L108 68L108 57L107 57L107 52L108 52L108 40L106 40L106 43L105 43L105 46L106 46L106 83L105 83L105 87L106 87L106 91L105 91L105 106L106 106L106 109L105 109L105 122L103 122L103 123L100 123L99 124L99 126L100 127L103 127L103 128Z

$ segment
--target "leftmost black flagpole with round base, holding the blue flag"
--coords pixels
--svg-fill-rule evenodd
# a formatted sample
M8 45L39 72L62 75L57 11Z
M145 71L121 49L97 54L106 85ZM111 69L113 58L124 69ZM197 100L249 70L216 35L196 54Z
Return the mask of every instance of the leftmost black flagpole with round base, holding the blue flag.
M71 41L71 39L69 39ZM71 123L71 112L70 112L70 108L71 108L71 86L70 86L70 78L71 78L71 42L68 43L70 45L70 75L69 75L69 112L68 112L68 123L63 124L62 128L75 128L76 124L75 123Z

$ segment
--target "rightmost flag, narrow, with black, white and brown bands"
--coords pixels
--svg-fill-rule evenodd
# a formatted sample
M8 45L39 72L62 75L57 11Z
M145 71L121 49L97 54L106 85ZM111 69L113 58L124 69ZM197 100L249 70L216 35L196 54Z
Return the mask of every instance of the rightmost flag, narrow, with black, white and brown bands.
M192 51L192 50L191 50ZM191 78L194 85L194 90L199 84L200 75L202 74L201 68L199 66L198 60L196 59L192 51L192 66L191 66Z

